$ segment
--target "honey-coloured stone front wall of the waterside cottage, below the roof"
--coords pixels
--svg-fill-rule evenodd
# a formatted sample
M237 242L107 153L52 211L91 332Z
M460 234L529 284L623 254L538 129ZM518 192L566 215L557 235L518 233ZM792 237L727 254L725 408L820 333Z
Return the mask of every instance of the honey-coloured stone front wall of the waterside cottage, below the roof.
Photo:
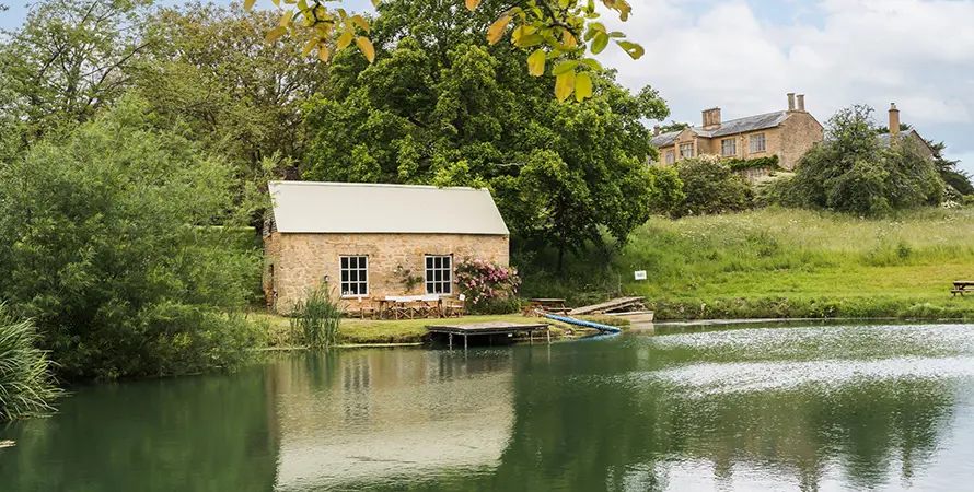
M269 304L287 313L309 288L329 278L339 293L340 257L369 258L369 296L425 294L425 284L406 291L403 270L411 277L425 273L427 255L452 255L454 261L479 258L510 263L510 239L499 235L460 234L282 234L265 237L265 291Z

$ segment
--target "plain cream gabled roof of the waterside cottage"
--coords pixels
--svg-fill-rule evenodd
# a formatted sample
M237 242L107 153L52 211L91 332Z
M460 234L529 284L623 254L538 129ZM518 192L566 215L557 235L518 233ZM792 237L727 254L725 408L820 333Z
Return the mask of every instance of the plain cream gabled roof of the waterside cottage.
M269 188L281 233L510 234L486 189L312 181Z

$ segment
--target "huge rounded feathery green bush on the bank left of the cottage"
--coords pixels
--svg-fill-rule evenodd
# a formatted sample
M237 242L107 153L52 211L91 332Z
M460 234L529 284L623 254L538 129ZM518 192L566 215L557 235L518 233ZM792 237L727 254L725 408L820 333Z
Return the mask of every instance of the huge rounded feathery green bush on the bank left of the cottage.
M69 379L242 362L259 254L232 168L126 102L0 169L0 297Z

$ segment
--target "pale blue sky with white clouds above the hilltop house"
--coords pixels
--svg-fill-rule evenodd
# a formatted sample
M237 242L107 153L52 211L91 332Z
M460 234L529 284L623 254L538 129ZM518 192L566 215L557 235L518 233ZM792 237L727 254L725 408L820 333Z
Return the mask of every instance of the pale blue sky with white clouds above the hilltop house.
M230 3L230 0L214 0ZM619 82L660 92L676 121L700 122L718 106L724 120L786 109L786 94L805 94L821 122L853 104L890 103L927 139L974 173L974 0L630 0L618 25L646 56L606 49ZM15 28L24 0L0 0L0 28ZM178 4L182 0L162 0ZM258 0L258 7L273 7ZM370 0L346 0L372 11Z

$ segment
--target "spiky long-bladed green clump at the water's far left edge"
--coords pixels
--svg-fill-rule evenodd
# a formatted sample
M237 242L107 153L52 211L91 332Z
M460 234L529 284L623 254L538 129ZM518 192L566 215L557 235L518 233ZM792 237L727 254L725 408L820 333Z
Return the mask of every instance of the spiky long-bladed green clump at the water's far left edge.
M60 390L37 341L34 325L0 304L0 422L54 410L50 405Z

